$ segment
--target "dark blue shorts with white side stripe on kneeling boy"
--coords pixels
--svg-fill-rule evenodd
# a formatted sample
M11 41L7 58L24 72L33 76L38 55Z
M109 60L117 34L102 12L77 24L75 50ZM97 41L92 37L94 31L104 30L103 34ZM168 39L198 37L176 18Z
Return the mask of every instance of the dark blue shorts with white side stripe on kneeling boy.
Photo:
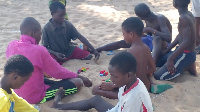
M184 72L184 69L189 67L196 61L196 52L184 52L180 54L176 60L174 61L174 67L176 68L175 74L170 74L166 67L166 62L168 57L173 53L171 51L166 55L162 56L157 64L156 67L161 67L158 71L154 73L154 77L156 80L171 80L178 77L180 74Z

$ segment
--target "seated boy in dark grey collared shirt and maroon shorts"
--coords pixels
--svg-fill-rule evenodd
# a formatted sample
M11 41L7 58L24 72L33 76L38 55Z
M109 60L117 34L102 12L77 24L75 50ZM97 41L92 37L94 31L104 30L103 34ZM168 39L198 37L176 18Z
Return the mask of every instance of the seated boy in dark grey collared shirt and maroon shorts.
M90 52L71 44L71 40L78 38L84 45L91 49L91 52L95 55L95 59L98 59L100 55L96 49L69 21L64 19L65 10L65 6L60 2L53 2L50 5L52 18L43 28L43 46L47 48L52 57L60 64L69 59L90 60L92 58Z

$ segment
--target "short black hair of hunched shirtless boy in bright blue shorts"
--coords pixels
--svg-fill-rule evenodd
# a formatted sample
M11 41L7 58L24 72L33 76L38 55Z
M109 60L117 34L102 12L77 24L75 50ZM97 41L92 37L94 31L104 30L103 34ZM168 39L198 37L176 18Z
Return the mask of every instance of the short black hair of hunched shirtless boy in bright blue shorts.
M152 12L145 3L140 3L135 6L135 14L138 17L148 17Z

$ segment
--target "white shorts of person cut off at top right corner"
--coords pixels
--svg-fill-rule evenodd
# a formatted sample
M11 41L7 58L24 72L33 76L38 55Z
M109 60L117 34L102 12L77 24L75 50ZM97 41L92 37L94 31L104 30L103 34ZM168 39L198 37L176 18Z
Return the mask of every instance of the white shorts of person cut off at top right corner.
M192 13L194 17L200 17L200 0L192 0Z

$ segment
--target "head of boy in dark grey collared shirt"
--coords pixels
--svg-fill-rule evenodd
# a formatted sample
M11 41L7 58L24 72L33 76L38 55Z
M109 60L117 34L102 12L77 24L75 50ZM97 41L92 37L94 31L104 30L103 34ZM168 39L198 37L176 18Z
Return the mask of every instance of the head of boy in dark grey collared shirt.
M65 20L66 9L61 2L53 2L50 5L52 19L57 23L62 23Z

